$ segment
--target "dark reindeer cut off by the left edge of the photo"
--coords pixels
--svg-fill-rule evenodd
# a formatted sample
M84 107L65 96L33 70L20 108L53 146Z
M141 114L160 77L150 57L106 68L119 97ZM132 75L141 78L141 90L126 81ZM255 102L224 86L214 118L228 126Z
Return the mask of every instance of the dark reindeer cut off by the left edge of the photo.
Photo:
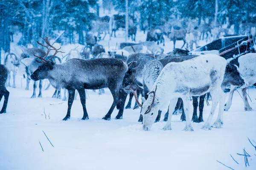
M9 91L6 89L6 80L9 74L8 68L0 64L0 101L4 96L3 108L0 111L1 113L6 113L6 107L9 99Z

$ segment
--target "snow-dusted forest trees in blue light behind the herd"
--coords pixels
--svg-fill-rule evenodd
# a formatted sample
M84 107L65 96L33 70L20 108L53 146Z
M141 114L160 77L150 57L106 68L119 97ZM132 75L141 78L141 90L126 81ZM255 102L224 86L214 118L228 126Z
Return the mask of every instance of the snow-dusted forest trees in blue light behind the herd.
M128 14L140 30L167 23L187 28L193 22L211 28L226 24L234 26L234 34L244 34L241 24L256 24L255 5L255 0L128 0ZM0 48L9 51L17 32L22 34L18 45L36 47L38 37L57 37L61 31L59 42L84 44L100 6L105 15L125 14L125 0L1 0Z

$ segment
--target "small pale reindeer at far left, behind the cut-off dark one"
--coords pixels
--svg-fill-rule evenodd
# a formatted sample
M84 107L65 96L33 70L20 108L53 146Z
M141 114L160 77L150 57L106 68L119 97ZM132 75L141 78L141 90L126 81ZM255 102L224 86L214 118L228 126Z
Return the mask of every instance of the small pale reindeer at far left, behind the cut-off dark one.
M14 53L8 53L6 55L5 60L4 60L4 65L6 65L6 67L9 69L9 71L12 71L12 78L13 78L12 87L16 88L15 77L16 77L16 74L17 74L18 67L20 66L19 59L17 58L17 56ZM8 86L11 86L10 85L10 79L11 79L11 75L8 74L8 78L7 78L7 85Z

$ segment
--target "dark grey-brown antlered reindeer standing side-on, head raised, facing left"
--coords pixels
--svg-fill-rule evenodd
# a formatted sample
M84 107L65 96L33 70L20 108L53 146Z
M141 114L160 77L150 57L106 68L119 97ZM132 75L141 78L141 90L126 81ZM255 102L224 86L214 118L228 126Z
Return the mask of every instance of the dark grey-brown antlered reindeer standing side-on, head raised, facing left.
M47 38L44 39L47 42ZM41 44L40 44L41 45ZM54 48L55 56L59 49ZM52 49L51 49L52 50ZM39 79L49 79L49 82L55 88L66 88L68 90L68 109L67 115L63 120L70 119L70 111L73 104L75 90L79 92L81 104L83 106L83 120L89 119L85 106L85 91L84 89L100 89L109 88L113 95L113 104L108 113L103 117L105 120L111 119L111 113L116 107L119 99L126 95L122 89L122 80L128 70L127 65L120 59L70 59L61 64L55 64L45 58L38 62L44 62L43 65L31 75L31 79L37 81ZM123 102L122 102L123 103ZM120 106L120 110L116 119L122 119L124 103Z

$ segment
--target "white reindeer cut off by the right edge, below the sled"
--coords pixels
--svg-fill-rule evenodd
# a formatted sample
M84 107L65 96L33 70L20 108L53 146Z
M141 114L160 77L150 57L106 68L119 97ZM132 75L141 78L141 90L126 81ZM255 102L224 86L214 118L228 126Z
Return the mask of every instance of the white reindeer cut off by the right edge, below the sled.
M248 103L246 90L248 87L256 83L256 68L255 68L256 54L248 53L248 54L242 55L241 57L238 58L238 62L239 62L239 71L244 76L245 80L248 82L247 87L241 87L243 102L244 102L244 111L252 111L253 109L250 107ZM235 89L236 89L236 86L231 85L230 94L229 94L227 103L225 104L226 111L229 110L232 104L232 98L233 98Z

